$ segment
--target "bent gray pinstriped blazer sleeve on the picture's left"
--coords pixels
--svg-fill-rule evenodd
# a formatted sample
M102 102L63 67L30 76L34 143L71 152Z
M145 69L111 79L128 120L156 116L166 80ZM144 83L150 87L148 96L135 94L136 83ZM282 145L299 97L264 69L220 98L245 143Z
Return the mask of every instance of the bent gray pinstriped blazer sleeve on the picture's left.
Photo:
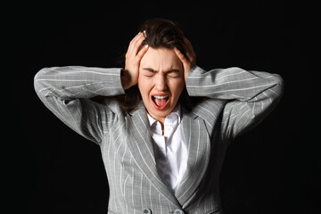
M79 135L99 144L104 130L116 115L90 98L124 94L120 69L82 66L39 70L34 78L36 93L45 106Z

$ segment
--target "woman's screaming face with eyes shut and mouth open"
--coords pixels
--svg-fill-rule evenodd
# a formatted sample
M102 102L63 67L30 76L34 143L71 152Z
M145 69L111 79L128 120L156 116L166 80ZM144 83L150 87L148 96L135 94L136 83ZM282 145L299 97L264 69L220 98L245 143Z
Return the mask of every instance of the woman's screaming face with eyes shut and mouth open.
M138 87L152 118L163 121L185 86L183 64L174 50L149 48L140 62Z

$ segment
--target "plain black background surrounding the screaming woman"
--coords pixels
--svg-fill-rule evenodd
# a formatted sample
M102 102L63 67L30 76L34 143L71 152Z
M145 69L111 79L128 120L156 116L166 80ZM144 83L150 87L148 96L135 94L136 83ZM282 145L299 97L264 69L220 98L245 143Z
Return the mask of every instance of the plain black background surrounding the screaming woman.
M153 17L183 26L205 70L238 66L284 78L276 110L226 153L225 213L320 213L319 151L307 126L317 107L307 108L312 89L302 13L302 4L271 1L19 4L11 26L18 59L10 71L18 79L11 101L18 117L8 123L17 146L9 160L10 213L107 212L99 147L45 108L33 78L44 67L119 67L139 25Z

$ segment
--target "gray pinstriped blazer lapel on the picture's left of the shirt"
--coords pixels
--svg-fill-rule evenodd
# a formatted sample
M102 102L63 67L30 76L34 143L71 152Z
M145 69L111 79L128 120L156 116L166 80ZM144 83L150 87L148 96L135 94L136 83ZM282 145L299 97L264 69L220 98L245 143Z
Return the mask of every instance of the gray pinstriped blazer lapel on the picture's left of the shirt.
M161 195L169 202L179 206L175 195L169 190L161 179L156 168L155 155L152 147L152 136L149 132L149 124L144 104L141 103L131 115L127 117L129 139L128 147L136 165L142 170L144 176L152 183Z

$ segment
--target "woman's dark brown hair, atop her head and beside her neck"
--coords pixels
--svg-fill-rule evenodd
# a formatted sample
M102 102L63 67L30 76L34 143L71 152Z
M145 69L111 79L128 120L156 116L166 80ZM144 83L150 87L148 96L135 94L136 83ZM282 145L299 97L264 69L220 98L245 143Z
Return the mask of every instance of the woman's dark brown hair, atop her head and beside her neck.
M181 53L186 54L186 46L184 42L185 34L183 29L175 21L165 19L150 19L144 21L139 28L140 32L144 31L145 39L139 50L144 45L149 45L152 48L168 48L176 47ZM124 55L125 56L125 55ZM123 56L123 57L124 57ZM125 62L125 58L123 58ZM115 96L119 105L126 111L134 109L142 100L138 86L132 86L126 90L125 95ZM203 100L202 97L190 97L184 88L180 95L180 101L185 104L188 109L192 109L197 103Z

